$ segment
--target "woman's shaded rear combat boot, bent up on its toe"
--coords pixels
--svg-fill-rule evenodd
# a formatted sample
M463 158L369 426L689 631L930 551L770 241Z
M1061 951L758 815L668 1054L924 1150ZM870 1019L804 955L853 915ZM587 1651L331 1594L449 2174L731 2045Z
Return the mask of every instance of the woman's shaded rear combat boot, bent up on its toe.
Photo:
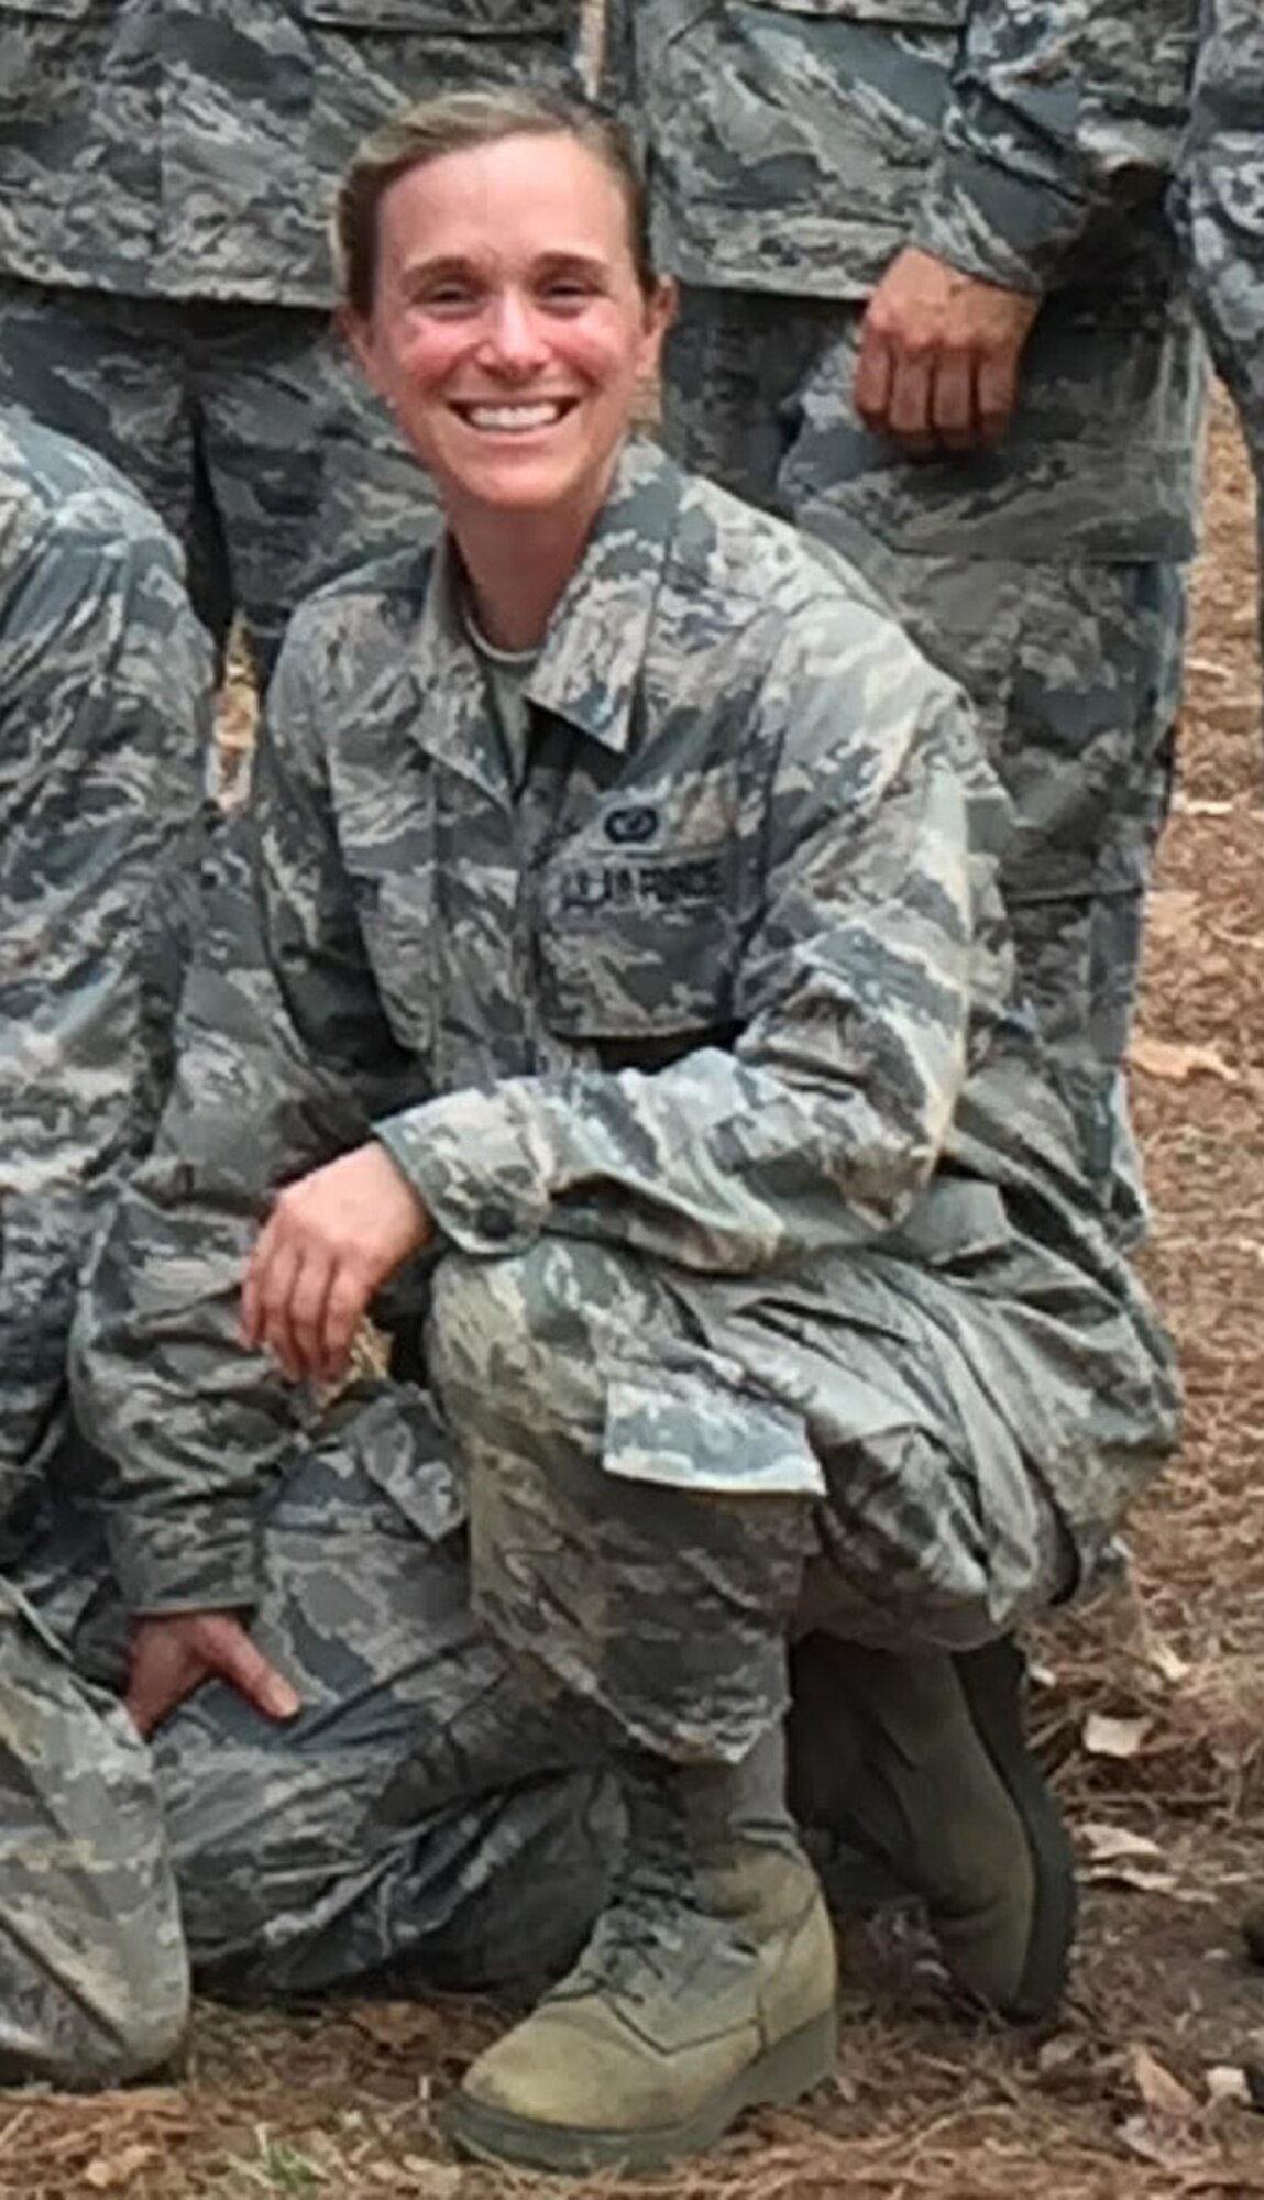
M945 1967L1011 2022L1050 2015L1075 1936L1075 1857L1022 1723L1004 1639L960 1657L795 1650L791 1804L927 1905ZM830 1890L830 1866L821 1859Z

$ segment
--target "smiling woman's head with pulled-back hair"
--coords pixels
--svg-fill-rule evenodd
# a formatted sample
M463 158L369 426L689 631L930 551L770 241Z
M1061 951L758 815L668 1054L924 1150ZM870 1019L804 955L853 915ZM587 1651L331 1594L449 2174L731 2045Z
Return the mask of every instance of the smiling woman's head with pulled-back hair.
M562 130L506 136L405 169L377 222L372 310L346 328L449 519L588 526L669 319L612 172Z

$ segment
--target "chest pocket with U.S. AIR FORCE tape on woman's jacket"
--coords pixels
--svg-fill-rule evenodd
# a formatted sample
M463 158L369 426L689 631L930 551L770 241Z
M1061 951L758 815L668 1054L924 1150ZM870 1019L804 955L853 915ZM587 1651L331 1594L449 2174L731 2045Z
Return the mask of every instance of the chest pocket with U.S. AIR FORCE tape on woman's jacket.
M729 849L566 849L540 906L544 1021L603 1056L656 1067L733 1019L738 915Z

